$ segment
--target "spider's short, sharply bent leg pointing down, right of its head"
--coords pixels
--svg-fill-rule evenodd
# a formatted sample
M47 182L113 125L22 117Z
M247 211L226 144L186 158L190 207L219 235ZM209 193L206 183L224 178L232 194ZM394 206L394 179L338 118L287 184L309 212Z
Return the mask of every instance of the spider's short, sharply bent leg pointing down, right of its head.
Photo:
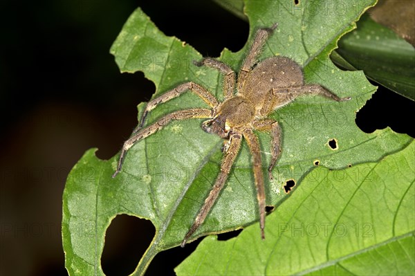
M281 154L281 134L282 129L275 120L265 119L252 122L252 126L259 131L269 131L273 140L271 141L271 161L268 167L268 178L273 180L273 168L277 165L277 160Z

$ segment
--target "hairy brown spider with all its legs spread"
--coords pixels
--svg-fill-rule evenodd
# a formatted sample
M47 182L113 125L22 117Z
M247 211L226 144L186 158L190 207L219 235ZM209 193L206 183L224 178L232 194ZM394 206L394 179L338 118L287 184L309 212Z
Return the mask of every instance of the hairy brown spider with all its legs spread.
M335 101L349 100L350 98L339 98L330 91L317 84L304 84L303 73L300 66L288 57L268 57L257 63L257 57L261 52L268 36L277 28L277 24L271 28L261 28L257 30L255 40L252 43L248 56L242 64L241 71L238 74L237 94L234 95L235 72L216 59L209 57L203 58L200 62L194 62L196 66L208 66L216 68L223 73L223 90L225 100L218 102L216 98L201 85L194 82L186 82L177 86L175 89L167 91L158 98L147 103L140 121L138 129L134 135L124 142L122 147L118 167L113 174L115 177L122 167L127 150L135 142L154 134L162 129L172 120L185 120L190 118L209 118L202 124L202 129L210 134L216 134L227 140L223 146L223 159L221 163L221 172L216 178L216 182L210 191L210 194L203 204L199 214L190 230L185 235L181 246L192 236L199 226L205 221L210 209L221 192L223 185L228 178L228 174L234 163L235 158L241 147L242 137L246 139L248 147L252 154L252 166L254 171L255 186L257 188L257 199L259 204L259 221L261 228L261 237L264 236L265 227L265 189L264 176L262 173L261 149L254 130L268 131L273 140L271 142L272 158L268 167L268 177L273 178L271 174L278 156L281 152L279 147L281 143L281 127L278 122L266 118L269 113L275 109L292 102L297 96L304 94L319 94L331 98ZM157 122L149 127L141 129L144 125L147 113L154 109L158 104L172 100L185 91L192 91L203 99L212 109L185 109L174 111L160 118Z

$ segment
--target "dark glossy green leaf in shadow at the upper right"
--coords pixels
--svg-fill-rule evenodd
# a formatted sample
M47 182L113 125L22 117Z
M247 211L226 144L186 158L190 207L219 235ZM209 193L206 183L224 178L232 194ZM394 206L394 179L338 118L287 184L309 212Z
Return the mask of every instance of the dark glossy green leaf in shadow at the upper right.
M414 46L368 15L360 19L357 30L340 39L331 57L339 66L363 70L371 80L415 100Z

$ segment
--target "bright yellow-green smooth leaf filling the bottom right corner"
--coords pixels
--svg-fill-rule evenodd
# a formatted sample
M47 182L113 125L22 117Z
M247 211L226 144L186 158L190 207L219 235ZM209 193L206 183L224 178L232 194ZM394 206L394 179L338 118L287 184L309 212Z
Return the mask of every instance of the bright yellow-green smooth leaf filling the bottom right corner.
M207 237L177 275L414 275L415 142L376 163L317 167L238 237ZM214 266L212 266L214 264Z

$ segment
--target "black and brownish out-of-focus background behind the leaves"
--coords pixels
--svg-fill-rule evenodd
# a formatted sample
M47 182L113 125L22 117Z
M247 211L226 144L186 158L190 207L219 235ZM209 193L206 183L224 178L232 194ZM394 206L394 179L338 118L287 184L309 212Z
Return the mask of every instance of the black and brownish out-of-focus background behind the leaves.
M151 2L151 3L149 3ZM120 74L109 48L140 6L166 35L203 55L237 51L248 24L212 1L17 1L1 3L0 275L66 275L60 234L66 176L84 151L116 154L154 84ZM379 89L357 114L365 132L387 126L415 136L414 103ZM127 275L154 235L149 221L119 216L102 266ZM225 239L223 237L223 239ZM147 275L173 275L196 242L156 256Z

